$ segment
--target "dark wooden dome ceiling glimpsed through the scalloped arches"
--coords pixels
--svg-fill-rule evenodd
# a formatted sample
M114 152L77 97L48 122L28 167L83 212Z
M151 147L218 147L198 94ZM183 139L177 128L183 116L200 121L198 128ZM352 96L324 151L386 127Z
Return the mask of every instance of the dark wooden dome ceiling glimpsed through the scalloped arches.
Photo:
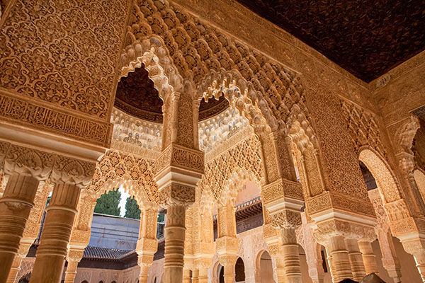
M220 100L201 100L199 120L215 116L229 106L224 96ZM159 98L154 82L149 79L145 66L123 77L118 83L115 107L128 114L152 122L162 122L162 99Z

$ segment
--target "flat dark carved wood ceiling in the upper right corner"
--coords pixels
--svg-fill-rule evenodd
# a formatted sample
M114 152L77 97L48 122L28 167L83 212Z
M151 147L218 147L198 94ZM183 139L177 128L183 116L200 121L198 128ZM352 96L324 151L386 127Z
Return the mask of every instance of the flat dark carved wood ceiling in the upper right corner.
M363 81L425 49L424 0L237 0Z

